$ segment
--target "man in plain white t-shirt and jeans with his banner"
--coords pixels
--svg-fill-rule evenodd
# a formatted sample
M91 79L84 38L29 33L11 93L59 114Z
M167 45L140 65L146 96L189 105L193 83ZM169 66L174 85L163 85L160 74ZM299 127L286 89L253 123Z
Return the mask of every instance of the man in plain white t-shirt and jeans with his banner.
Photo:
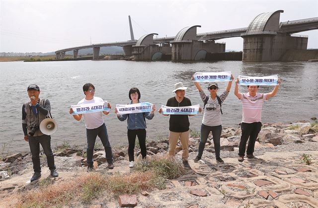
M97 136L104 146L108 168L113 169L113 154L103 119L103 114L109 114L111 105L102 98L94 96L95 87L91 83L84 84L83 91L85 97L79 101L77 106L72 106L69 113L77 121L84 116L87 138L87 171L93 170L93 152Z

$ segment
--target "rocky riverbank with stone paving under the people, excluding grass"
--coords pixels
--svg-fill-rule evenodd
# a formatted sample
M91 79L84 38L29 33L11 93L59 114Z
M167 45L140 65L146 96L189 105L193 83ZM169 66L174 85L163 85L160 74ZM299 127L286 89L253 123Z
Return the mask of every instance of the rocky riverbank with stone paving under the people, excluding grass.
M106 197L91 204L77 203L75 207L120 207L125 200L137 207L318 207L318 123L300 121L292 124L263 124L255 144L258 159L238 162L240 128L224 128L221 136L221 157L225 163L217 164L213 138L209 136L206 148L198 163L199 138L189 139L191 169L179 178L168 180L166 189L153 189L149 193ZM192 134L194 136L195 134ZM166 155L168 140L147 143L148 159ZM67 181L85 173L85 149L64 146L55 152L57 170L53 181ZM105 152L95 149L95 172L102 174L130 174L127 147L113 149L113 170L107 168ZM137 149L136 149L137 150ZM177 145L176 159L181 161L182 147ZM137 160L140 150L136 151ZM42 180L50 178L46 157L41 156L42 178L29 183L32 161L29 152L21 152L0 161L0 198L7 199L14 193L37 189ZM147 195L147 196L146 196ZM126 198L125 198L126 197ZM0 207L7 207L1 200ZM14 207L14 200L9 201ZM128 206L128 205L127 205ZM68 205L68 207L74 207Z

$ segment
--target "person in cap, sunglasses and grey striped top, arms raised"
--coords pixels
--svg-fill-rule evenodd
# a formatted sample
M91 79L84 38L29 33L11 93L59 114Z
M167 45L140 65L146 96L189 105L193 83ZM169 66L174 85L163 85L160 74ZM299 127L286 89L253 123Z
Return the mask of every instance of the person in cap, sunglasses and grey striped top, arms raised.
M212 74L212 73L211 73ZM205 94L201 85L198 83L198 80L195 78L196 74L192 76L192 80L194 81L195 86L199 90L200 97L203 101L203 119L201 124L201 138L199 143L199 149L198 149L198 155L193 160L194 162L198 162L201 160L203 150L205 147L205 143L207 142L208 136L210 132L212 132L213 136L213 143L214 143L214 150L215 150L215 157L217 160L217 163L224 163L223 159L220 157L220 138L222 133L222 121L221 121L221 115L223 114L221 106L224 100L229 95L232 81L234 79L234 76L229 73L230 80L228 81L227 88L221 95L217 95L217 92L219 90L218 83L212 79L208 85L208 91L210 92L209 95Z

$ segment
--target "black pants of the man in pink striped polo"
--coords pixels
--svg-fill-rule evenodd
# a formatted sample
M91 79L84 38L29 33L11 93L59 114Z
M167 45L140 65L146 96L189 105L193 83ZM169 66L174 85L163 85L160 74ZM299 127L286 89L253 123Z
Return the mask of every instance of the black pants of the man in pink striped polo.
M255 141L257 139L257 136L261 127L262 127L261 122L241 124L240 129L242 130L242 136L240 137L240 142L239 142L239 156L244 156L246 142L248 138L249 140L248 140L246 154L253 154Z

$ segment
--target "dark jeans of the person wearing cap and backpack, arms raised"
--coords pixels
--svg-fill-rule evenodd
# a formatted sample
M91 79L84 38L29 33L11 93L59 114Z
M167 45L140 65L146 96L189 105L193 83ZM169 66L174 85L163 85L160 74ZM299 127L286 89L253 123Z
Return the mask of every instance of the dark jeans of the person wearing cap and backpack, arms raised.
M222 125L211 127L211 126L206 126L202 124L201 139L200 139L199 150L198 150L198 157L200 158L202 157L205 143L207 142L210 132L212 132L212 135L213 135L215 156L216 158L220 157L220 137L222 132Z

